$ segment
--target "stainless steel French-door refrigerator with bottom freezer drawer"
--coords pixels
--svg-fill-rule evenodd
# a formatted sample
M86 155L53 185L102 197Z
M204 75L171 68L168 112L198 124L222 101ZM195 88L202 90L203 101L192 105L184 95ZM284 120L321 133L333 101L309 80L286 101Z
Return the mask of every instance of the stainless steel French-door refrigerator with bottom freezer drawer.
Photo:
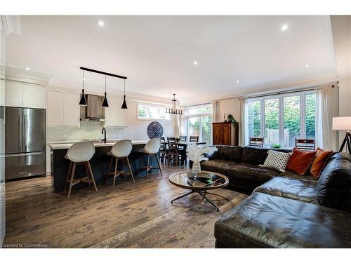
M6 180L46 175L46 111L6 107Z

